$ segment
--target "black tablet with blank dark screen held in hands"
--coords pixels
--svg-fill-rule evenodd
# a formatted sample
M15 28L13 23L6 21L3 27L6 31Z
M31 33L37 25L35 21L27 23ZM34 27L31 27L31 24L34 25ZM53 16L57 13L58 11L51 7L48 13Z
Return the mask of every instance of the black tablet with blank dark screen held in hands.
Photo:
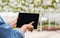
M19 13L17 20L17 27L21 27L24 24L29 24L34 21L32 24L34 29L37 29L39 14L34 13Z

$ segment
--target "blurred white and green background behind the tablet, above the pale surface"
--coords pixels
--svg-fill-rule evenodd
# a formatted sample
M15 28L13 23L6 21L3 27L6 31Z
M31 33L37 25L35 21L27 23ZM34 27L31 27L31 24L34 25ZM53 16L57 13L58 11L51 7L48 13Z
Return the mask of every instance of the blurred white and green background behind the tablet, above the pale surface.
M38 30L60 30L60 0L0 0L0 15L6 23L19 12L39 13Z

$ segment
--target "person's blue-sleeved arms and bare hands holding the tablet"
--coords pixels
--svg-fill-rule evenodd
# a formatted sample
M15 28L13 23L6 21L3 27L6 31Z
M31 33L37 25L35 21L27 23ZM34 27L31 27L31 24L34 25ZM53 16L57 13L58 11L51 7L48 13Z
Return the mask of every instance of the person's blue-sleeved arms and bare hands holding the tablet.
M12 27L15 27L16 21L13 22L11 25L6 24L3 22L3 20L0 18L0 38L24 38L24 32L27 29L30 29L30 31L33 30L32 23L25 24L22 26L21 30L13 30ZM30 26L28 26L30 25ZM32 30L31 30L32 29Z

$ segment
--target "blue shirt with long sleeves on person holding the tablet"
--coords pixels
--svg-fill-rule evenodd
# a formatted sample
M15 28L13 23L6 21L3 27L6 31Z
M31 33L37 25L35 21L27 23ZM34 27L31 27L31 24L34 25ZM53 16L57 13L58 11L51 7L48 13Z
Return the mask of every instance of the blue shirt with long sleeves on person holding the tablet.
M0 38L24 38L24 32L20 29L13 30L10 24L6 24L0 17Z

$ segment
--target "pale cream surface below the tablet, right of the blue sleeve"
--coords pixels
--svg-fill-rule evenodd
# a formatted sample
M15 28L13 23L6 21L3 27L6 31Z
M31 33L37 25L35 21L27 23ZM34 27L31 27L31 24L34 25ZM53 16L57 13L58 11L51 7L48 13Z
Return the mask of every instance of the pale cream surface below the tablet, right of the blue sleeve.
M27 31L25 33L25 38L60 38L60 31Z

